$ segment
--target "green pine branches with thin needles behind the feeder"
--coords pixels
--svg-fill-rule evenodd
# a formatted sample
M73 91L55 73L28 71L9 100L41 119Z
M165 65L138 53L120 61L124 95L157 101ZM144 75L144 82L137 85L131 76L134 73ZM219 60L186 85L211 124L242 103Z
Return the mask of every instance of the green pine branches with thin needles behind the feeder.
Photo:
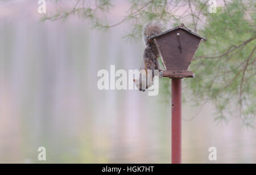
M160 22L164 29L185 23L193 32L208 39L201 44L190 66L196 79L185 80L187 93L184 100L195 104L212 103L216 106L217 122L230 116L240 117L251 126L256 108L256 36L254 0L130 0L126 16L113 24L106 16L115 3L111 0L73 0L72 8L62 8L61 1L52 1L56 10L46 20L65 20L69 16L86 19L93 28L108 29L129 23L129 39L141 39L143 26L152 20ZM209 8L216 2L216 13ZM162 79L164 93L170 93L170 80ZM184 97L184 96L183 96Z

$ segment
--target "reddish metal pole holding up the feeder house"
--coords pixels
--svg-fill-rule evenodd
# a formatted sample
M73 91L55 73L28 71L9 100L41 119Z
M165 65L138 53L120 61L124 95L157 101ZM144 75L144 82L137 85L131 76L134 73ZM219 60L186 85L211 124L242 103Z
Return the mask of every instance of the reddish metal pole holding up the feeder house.
M181 163L181 79L172 78L172 164Z

